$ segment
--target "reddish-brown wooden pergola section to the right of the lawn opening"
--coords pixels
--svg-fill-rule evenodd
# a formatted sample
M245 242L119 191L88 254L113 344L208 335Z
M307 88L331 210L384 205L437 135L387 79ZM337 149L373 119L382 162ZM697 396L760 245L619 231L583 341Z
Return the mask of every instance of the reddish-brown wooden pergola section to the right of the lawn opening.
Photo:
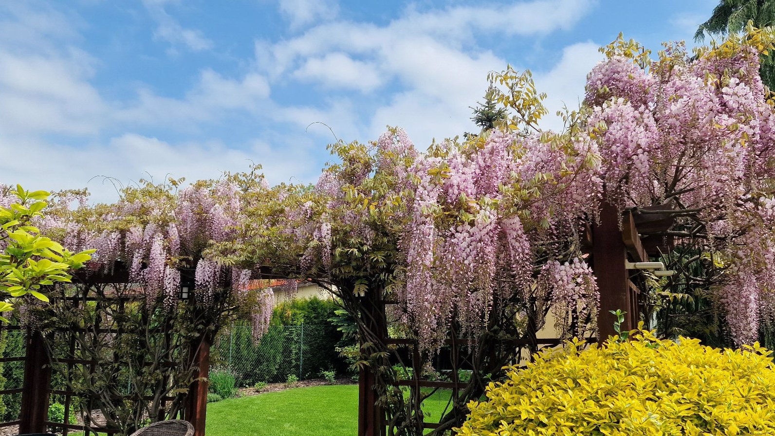
M641 211L659 211L663 206L643 208ZM659 257L660 253L670 250L673 238L663 236L663 232L673 225L672 215L660 213L636 213L625 211L619 213L615 205L605 204L601 210L599 224L594 227L586 226L584 232L584 250L591 255L591 265L597 278L600 291L600 310L598 311L598 335L600 338L608 338L615 335L614 321L616 318L609 311L620 309L625 311L625 320L622 330L632 330L637 327L641 314L643 294L633 283L632 273L627 269L626 263L648 262L651 257ZM654 236L647 235L654 234ZM373 331L380 332L381 341L385 345L415 345L408 339L390 338L387 334L386 304L394 304L393 301L381 300L380 296L370 297L366 304L368 313L362 314L363 320L376 320L370 327ZM365 322L365 321L364 321ZM588 340L596 341L597 338ZM448 338L453 359L459 359L460 348L469 341L467 338ZM560 345L560 338L538 338L532 344L524 340L512 340L509 346L522 347L526 345L554 346ZM412 362L419 362L417 348L412 347ZM415 366L416 367L416 366ZM385 436L386 415L378 404L378 395L375 390L377 380L369 369L360 369L358 436ZM423 387L443 388L452 390L453 396L465 386L460 382L456 372L452 372L451 381L427 380L414 372L413 379L398 381L398 386L408 386L415 390ZM432 429L439 424L423 422L422 427Z

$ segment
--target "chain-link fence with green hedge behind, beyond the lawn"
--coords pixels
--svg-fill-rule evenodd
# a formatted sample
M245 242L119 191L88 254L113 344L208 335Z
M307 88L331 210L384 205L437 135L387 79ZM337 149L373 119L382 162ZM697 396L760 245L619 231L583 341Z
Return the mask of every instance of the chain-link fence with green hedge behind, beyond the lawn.
M236 386L315 379L322 371L346 369L336 352L341 333L333 325L272 326L258 343L250 327L224 329L212 347L212 366L229 369Z

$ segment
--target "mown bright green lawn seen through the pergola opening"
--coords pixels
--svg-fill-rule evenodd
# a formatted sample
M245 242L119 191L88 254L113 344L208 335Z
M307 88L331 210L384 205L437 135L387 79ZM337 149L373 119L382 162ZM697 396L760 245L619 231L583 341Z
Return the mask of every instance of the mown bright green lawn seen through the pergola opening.
M439 391L422 402L438 420L449 400ZM300 387L209 403L207 436L353 436L358 431L358 386Z

